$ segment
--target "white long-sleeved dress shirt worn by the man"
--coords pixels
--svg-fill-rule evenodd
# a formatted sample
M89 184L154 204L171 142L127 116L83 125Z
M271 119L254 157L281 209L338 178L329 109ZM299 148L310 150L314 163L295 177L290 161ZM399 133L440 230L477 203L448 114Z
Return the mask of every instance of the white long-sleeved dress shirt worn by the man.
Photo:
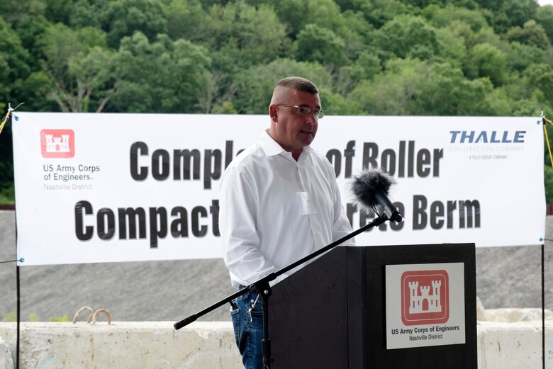
M328 159L307 146L296 161L267 132L225 170L219 227L235 288L352 232Z

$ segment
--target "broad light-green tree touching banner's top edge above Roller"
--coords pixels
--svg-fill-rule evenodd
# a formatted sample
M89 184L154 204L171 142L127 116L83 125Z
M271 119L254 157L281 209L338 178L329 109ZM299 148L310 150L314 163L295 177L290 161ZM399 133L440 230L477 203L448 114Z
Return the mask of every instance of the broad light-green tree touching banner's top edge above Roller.
M496 115L487 98L492 91L487 79L469 81L447 63L393 59L349 99L371 115Z

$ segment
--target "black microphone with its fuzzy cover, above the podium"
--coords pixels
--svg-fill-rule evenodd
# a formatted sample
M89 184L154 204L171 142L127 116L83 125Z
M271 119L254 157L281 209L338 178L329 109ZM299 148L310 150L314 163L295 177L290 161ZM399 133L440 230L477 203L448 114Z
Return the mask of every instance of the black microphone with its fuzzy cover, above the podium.
M365 169L359 176L354 176L352 182L352 192L357 199L368 209L376 209L380 205L384 209L386 217L391 222L401 222L403 218L398 209L388 198L388 191L392 185L396 184L386 171L382 169Z

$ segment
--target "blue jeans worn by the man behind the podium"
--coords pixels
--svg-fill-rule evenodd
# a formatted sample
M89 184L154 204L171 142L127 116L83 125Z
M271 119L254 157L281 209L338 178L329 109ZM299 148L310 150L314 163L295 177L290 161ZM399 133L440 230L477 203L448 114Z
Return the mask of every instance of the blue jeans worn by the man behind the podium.
M236 346L245 369L263 369L263 312L259 293L247 292L234 300L233 318ZM252 308L253 306L253 308ZM250 310L250 308L252 308Z

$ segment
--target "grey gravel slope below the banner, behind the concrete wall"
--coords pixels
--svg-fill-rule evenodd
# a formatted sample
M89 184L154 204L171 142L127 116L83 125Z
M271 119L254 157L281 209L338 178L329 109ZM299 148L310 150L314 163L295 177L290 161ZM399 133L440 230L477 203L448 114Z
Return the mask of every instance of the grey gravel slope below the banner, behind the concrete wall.
M15 214L0 210L0 261L16 259ZM546 238L553 239L553 217ZM553 310L552 242L546 241L545 307ZM540 246L476 249L476 294L486 309L541 307ZM114 321L177 321L235 292L221 259L92 263L20 268L21 319L48 321L80 307L106 308ZM0 264L0 312L16 310L15 263ZM199 320L230 320L228 306ZM104 319L104 318L100 318Z

